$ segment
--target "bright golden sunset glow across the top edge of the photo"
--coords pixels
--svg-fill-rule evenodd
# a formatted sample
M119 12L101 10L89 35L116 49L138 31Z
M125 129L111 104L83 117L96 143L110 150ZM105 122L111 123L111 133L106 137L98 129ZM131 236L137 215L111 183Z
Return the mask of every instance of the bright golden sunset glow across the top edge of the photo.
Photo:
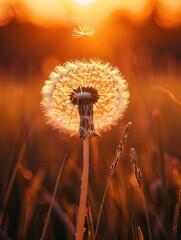
M15 11L19 19L26 18L35 24L46 26L60 23L96 25L115 11L120 11L134 22L143 22L155 7L158 24L169 27L181 22L181 0L0 0L0 25L13 18L14 12L8 8L9 3L15 9L16 4L23 9L23 12Z

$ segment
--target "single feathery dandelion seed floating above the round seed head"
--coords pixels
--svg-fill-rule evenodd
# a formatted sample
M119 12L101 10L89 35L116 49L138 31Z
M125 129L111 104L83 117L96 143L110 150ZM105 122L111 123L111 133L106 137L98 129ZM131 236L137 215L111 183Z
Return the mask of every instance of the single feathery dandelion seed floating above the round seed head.
M91 25L79 25L77 28L73 29L73 37L92 37L95 34L95 29Z

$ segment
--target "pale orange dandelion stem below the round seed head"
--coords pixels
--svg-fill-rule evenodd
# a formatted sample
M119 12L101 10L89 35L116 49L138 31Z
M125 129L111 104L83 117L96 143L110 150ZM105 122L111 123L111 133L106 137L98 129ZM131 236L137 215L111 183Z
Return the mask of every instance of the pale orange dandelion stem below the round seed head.
M88 178L89 178L89 136L86 136L85 139L83 140L83 173L77 219L76 240L82 240L84 234L85 211L88 192Z

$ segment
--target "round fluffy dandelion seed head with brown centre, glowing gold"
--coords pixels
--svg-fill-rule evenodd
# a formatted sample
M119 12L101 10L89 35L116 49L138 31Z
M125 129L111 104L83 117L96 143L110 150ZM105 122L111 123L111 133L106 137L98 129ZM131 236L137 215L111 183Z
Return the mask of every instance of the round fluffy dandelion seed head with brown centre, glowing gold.
M70 136L79 136L83 125L88 125L90 135L109 131L122 119L129 99L118 68L93 59L55 67L41 95L48 124Z

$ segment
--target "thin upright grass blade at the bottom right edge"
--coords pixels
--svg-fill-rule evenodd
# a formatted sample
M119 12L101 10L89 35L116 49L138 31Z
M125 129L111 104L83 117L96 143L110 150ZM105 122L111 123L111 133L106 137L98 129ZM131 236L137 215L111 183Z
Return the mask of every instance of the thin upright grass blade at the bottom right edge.
M174 212L174 221L173 221L173 227L172 227L173 239L177 239L179 217L181 218L180 211L181 211L181 189L179 190L178 201L176 203L175 212Z

